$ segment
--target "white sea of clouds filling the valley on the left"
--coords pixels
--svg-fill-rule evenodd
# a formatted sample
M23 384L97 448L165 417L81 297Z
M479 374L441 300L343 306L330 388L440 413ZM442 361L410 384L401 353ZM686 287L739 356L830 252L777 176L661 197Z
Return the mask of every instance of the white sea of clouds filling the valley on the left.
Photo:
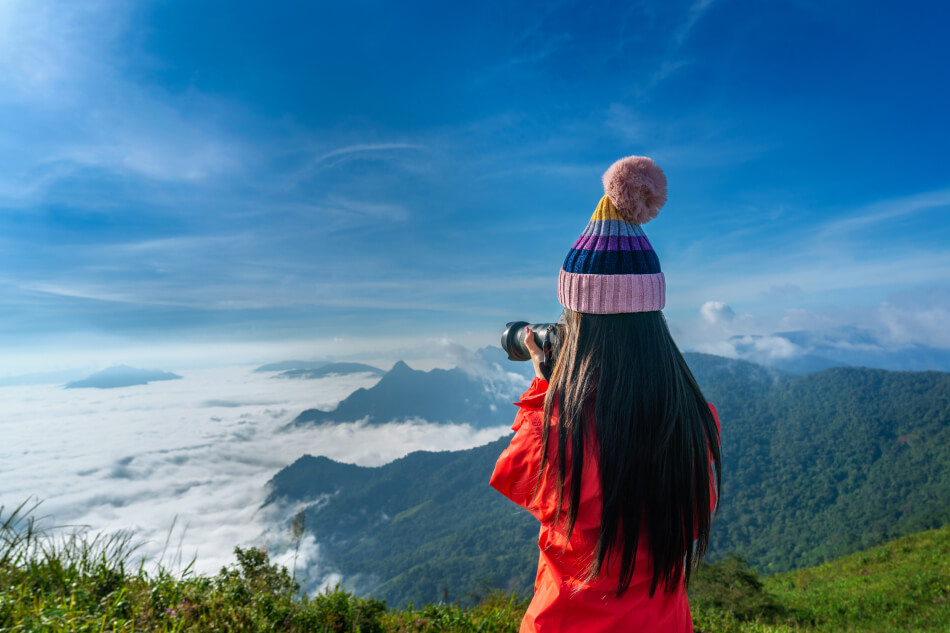
M509 432L422 420L285 429L301 411L332 409L378 378L293 380L253 369L178 371L180 380L118 389L0 387L4 513L32 499L54 532L132 530L137 556L166 567L194 559L196 571L214 573L233 562L236 545L256 545L313 570L313 538L297 551L284 530L291 517L277 515L288 509L261 508L278 470L307 453L377 466Z

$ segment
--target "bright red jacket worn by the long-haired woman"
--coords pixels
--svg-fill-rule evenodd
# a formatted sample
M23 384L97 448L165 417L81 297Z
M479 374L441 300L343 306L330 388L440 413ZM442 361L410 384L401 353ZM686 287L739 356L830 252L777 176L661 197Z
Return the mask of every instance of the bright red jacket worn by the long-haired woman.
M579 579L584 576L593 558L594 546L600 532L600 474L597 457L591 447L591 451L584 457L577 523L565 548L564 535L553 526L557 510L553 469L546 471L537 496L532 495L541 464L541 431L547 389L547 381L535 378L521 396L521 400L515 403L520 407L511 427L515 436L498 458L490 482L493 488L526 508L541 521L541 531L538 535L541 554L534 583L534 598L521 622L521 632L691 632L693 623L686 592L682 586L674 593L668 594L663 592L661 584L653 598L649 597L652 568L643 532L638 543L633 580L622 596L618 598L616 595L619 580L617 564L605 566L597 579L580 588L582 583ZM709 407L718 427L719 416L716 409L712 404ZM555 410L551 420L551 439L548 442L549 463L553 463L553 458L557 456L557 431L554 428L556 421ZM710 459L710 466L711 461ZM564 488L567 490L570 485L570 468L567 469L565 477ZM711 475L710 482L712 481ZM711 500L715 503L715 486L712 488ZM578 588L580 591L575 593Z

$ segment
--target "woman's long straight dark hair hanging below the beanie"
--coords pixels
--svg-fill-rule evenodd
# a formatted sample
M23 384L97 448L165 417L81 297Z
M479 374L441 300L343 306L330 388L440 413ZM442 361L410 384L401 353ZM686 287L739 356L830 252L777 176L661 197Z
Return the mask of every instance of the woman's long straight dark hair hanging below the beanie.
M712 412L661 312L565 310L564 316L561 348L544 401L545 463L538 484L546 467L553 466L558 520L567 493L565 534L570 539L580 504L582 456L596 450L603 501L600 535L586 580L596 578L619 555L617 595L623 594L638 562L642 527L653 567L650 596L661 582L664 591L672 592L681 581L689 584L692 569L709 546L710 455L717 498L720 489L719 435ZM556 462L549 465L548 431L555 402L558 451ZM565 491L567 468L571 478Z

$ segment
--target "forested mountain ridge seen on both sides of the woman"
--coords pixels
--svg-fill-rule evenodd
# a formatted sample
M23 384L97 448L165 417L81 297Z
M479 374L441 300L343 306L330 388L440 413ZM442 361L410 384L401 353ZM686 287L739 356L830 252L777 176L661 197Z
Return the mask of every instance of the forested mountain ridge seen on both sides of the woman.
M723 427L713 558L736 551L760 571L784 571L950 520L950 374L796 377L687 359ZM509 404L498 419L514 412ZM485 582L528 591L537 523L488 486L507 442L379 468L298 460L270 482L269 503L319 496L307 526L324 545L322 568L391 603L438 600L447 578L452 599Z

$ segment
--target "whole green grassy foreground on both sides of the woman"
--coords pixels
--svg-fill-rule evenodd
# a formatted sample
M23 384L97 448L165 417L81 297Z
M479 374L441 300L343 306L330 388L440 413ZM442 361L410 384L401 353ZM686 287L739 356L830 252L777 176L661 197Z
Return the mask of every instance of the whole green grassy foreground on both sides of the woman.
M148 571L130 534L53 537L35 508L0 508L0 631L514 633L527 606L500 591L470 608L400 610L339 586L307 596L255 548L235 548L214 576ZM730 556L697 572L690 603L705 633L945 633L950 526L766 579Z

